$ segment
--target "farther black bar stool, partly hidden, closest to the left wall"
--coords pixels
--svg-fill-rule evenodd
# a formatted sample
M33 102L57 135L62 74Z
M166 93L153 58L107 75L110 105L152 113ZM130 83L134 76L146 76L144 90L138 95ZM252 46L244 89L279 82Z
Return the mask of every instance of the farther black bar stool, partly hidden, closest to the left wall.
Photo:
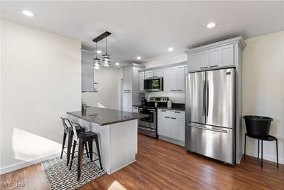
M65 152L65 148L67 148L67 152L65 152L65 154L67 154L67 164L66 166L68 166L69 161L70 161L70 154L71 154L71 147L72 147L72 139L73 139L73 128L72 128L72 124L70 122L70 120L68 120L67 118L63 118L62 119L62 124L63 124L63 128L64 128L64 133L63 133L63 142L62 142L62 149L61 149L61 155L60 155L60 159L62 159L62 155L63 152ZM77 133L82 133L84 132L84 128L79 127L79 124L75 124L75 128ZM65 147L65 141L66 141L66 137L68 136L68 142L67 142L67 147ZM85 143L85 148L86 148L86 152L88 152L87 149L87 143ZM87 154L87 157L89 157L89 155Z

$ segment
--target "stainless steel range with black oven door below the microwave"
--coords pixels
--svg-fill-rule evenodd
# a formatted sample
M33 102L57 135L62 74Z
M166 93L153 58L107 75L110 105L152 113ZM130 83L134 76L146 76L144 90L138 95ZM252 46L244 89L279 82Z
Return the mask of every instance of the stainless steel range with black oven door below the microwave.
M138 121L138 133L157 138L157 107L160 103L166 103L168 97L150 97L146 105L138 106L138 112L150 117Z

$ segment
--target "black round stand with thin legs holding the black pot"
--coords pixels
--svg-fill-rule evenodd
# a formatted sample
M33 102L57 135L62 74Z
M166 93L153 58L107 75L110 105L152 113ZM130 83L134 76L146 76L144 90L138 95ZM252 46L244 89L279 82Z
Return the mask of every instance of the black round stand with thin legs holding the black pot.
M244 134L244 158L246 158L246 136L258 140L258 159L259 159L259 141L261 140L261 168L263 168L263 140L264 141L276 141L277 167L279 167L279 164L278 164L278 139L276 137L273 137L271 135L268 135L268 137L256 137L256 136L253 136L251 134L247 134L247 133Z

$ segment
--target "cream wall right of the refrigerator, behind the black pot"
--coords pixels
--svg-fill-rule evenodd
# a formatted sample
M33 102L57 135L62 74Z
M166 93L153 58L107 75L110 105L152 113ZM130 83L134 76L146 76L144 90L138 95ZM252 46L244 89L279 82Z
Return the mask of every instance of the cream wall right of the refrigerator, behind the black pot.
M278 138L279 161L284 164L284 31L245 42L243 115L273 118L270 134ZM247 154L257 157L257 141L247 142ZM275 142L263 142L263 158L276 161Z

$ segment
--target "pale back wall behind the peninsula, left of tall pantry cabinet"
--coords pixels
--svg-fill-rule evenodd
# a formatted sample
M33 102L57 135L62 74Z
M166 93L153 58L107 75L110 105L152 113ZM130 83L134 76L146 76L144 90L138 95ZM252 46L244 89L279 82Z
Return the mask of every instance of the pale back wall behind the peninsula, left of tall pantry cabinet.
M121 68L94 70L94 80L99 83L97 93L82 93L82 101L90 106L103 105L109 109L121 110Z

